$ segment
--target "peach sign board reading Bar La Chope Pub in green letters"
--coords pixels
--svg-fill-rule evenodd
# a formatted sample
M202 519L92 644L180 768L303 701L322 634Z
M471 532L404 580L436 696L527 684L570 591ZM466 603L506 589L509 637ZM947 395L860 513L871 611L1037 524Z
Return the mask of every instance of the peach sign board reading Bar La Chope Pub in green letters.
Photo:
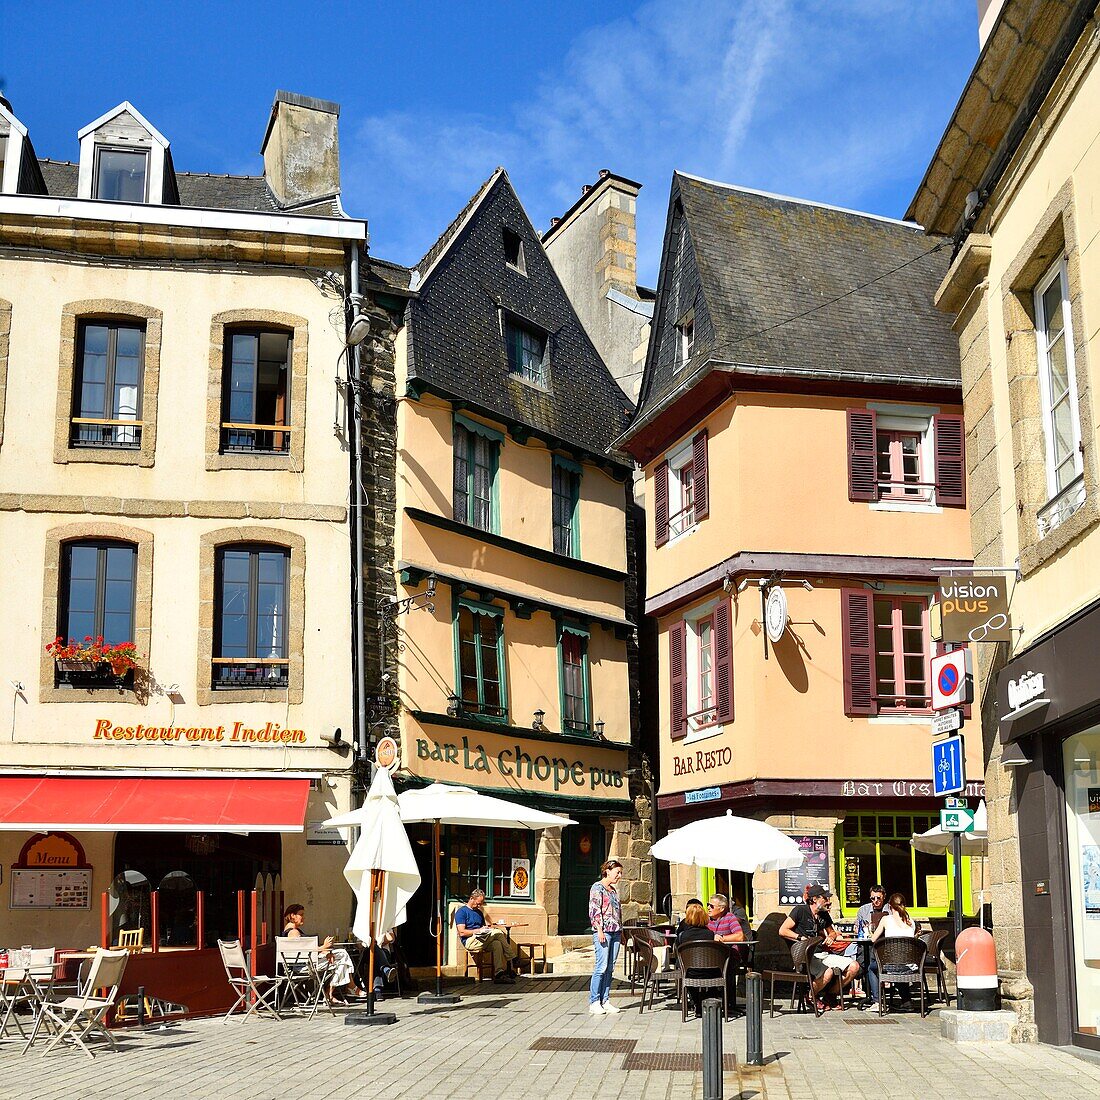
M426 779L509 791L626 801L626 749L580 747L488 730L408 730L405 767Z

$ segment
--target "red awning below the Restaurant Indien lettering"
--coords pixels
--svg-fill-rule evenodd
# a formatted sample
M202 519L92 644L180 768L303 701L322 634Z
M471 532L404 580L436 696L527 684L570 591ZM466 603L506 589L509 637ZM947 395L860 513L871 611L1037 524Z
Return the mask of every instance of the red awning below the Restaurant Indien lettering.
M308 779L0 776L0 829L300 833Z

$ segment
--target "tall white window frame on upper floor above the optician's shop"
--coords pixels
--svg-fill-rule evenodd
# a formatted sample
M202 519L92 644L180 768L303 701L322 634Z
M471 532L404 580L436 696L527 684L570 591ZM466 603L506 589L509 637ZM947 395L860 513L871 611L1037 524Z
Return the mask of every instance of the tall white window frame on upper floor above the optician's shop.
M1066 374L1070 427L1072 429L1074 476L1058 488L1054 464L1054 403L1050 391L1050 356L1046 333L1049 318L1043 295L1058 282L1062 295L1062 339L1066 349ZM1043 407L1043 463L1046 468L1046 504L1038 512L1041 535L1048 535L1085 503L1085 455L1081 453L1081 415L1077 400L1077 363L1074 359L1074 322L1069 305L1069 267L1065 256L1057 260L1035 285L1035 352L1037 356L1040 400Z

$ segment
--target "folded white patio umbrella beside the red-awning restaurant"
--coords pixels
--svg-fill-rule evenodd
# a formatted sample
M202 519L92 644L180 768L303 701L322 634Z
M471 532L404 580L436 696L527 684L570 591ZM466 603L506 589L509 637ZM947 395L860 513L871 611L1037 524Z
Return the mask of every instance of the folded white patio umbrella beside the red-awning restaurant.
M402 824L397 792L388 769L375 771L359 810L332 817L326 824L359 825L361 828L344 867L344 878L355 893L352 932L371 948L367 1015L374 1016L374 946L380 936L405 923L405 909L420 886L420 870Z

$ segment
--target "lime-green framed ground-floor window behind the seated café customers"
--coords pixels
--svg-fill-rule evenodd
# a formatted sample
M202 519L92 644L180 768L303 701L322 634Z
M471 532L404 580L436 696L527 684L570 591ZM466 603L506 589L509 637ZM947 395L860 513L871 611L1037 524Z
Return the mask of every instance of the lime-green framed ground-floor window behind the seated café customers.
M939 824L934 813L848 814L837 826L836 889L844 916L856 915L870 889L881 882L887 893L905 895L914 916L947 916L954 865L949 855L917 851L910 840ZM970 860L963 860L963 906L972 915Z

